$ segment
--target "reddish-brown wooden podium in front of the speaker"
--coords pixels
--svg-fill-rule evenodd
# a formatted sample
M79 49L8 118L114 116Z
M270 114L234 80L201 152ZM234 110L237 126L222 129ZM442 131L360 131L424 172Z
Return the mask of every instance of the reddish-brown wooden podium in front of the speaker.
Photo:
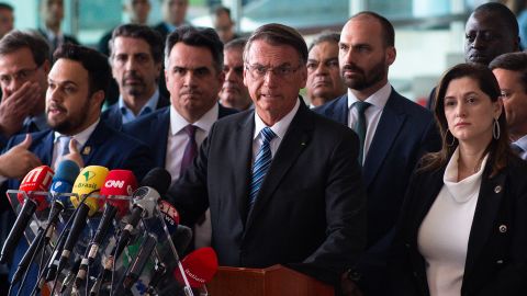
M334 296L332 286L282 265L224 267L206 285L211 296Z

